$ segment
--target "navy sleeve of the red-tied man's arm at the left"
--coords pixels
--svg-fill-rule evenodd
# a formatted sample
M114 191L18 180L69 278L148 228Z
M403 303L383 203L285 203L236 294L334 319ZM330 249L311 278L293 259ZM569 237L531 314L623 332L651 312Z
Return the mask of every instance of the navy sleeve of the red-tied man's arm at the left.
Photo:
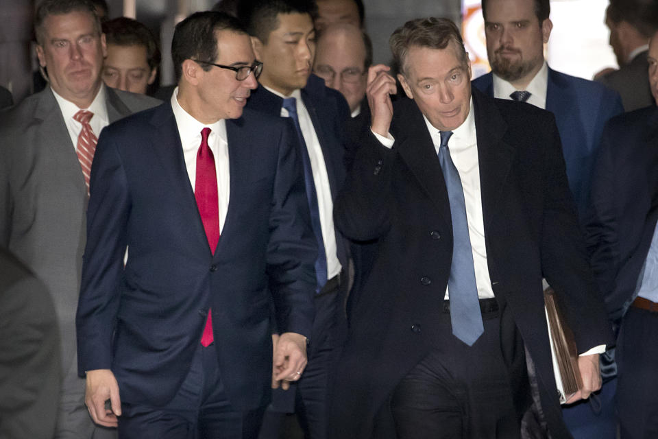
M109 369L117 322L130 198L111 131L101 132L94 156L87 209L87 244L77 307L78 372Z

